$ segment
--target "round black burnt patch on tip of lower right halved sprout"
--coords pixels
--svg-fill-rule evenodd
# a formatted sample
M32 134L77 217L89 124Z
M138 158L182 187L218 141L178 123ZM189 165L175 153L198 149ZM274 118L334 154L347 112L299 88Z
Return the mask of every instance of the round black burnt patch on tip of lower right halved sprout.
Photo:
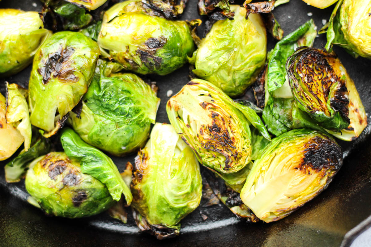
M305 153L299 170L307 173L307 168L319 172L322 169L338 170L343 161L341 147L328 137L313 137L308 143L304 144ZM308 169L308 172L310 170Z

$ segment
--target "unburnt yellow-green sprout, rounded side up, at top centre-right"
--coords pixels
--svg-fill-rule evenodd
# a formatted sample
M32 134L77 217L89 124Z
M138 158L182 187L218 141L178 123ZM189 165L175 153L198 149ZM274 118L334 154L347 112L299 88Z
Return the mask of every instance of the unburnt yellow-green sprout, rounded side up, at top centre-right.
M232 5L234 20L219 20L201 40L190 59L193 73L207 80L230 97L244 93L256 79L266 60L267 36L260 14Z

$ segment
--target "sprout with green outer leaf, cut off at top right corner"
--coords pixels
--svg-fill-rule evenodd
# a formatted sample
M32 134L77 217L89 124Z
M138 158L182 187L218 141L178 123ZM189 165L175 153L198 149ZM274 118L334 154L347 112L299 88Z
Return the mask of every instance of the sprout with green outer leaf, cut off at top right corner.
M343 47L354 57L371 59L370 0L339 0L331 14L325 48Z

